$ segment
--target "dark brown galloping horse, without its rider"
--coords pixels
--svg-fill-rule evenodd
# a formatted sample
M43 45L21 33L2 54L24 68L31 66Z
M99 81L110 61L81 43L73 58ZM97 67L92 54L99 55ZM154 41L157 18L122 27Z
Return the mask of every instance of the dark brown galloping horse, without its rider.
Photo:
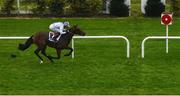
M67 32L66 34L62 34L59 41L57 42L49 41L49 32L38 32L28 38L24 44L19 44L18 49L24 51L29 48L30 45L35 44L37 46L37 49L34 51L34 53L40 59L40 63L43 63L43 59L39 55L39 52L41 52L51 62L54 62L53 59L60 59L61 51L63 49L70 50L70 52L68 54L65 54L64 56L71 55L73 49L69 47L69 43L71 42L71 39L75 34L85 36L85 32L83 32L77 25L69 28L69 32ZM56 49L57 57L52 57L46 54L47 46Z

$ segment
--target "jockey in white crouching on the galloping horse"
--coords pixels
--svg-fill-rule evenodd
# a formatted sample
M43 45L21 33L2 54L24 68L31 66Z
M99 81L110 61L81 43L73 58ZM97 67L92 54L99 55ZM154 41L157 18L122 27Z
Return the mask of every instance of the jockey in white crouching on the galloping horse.
M54 41L58 41L61 34L66 34L68 32L67 28L70 27L69 22L55 22L49 25L49 29L53 32L57 32L57 34L54 34L52 36L52 39Z

